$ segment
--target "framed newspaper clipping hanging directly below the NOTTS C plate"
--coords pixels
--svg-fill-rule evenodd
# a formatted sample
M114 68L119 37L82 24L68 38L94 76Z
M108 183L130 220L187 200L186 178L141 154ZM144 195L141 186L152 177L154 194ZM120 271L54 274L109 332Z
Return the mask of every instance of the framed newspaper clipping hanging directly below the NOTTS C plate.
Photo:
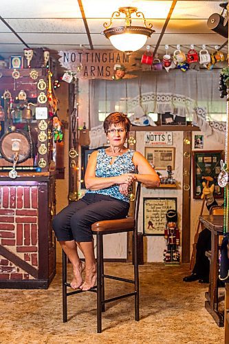
M175 147L145 147L144 156L156 170L175 169Z

